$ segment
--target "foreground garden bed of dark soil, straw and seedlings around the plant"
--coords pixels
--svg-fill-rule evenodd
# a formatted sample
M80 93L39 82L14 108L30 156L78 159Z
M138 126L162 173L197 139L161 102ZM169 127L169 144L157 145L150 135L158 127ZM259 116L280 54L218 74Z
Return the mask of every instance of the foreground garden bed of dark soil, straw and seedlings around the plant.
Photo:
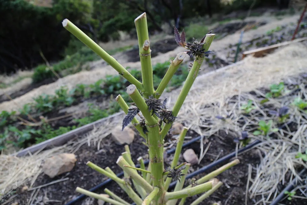
M266 181L266 187L258 187L256 192L251 190L247 191L247 187L251 189L252 186L257 187L257 183L263 183L263 181L261 182L261 179L263 180L265 177L263 178L262 175L259 175L260 170L258 170L258 168L260 166L271 164L271 166L278 168L278 166L283 163L282 157L290 156L290 160L292 162L292 165L290 166L292 166L292 168L294 168L294 170L297 172L301 170L304 162L302 162L299 158L297 159L295 156L299 150L305 150L305 148L307 148L306 144L304 144L304 133L302 133L302 130L300 129L301 126L304 126L304 122L307 120L305 114L307 102L305 101L304 97L306 94L306 87L307 76L305 73L302 73L300 77L288 78L288 80L282 81L282 83L279 84L256 89L247 93L241 93L240 96L233 96L225 99L225 102L227 102L227 108L230 108L226 110L228 112L228 116L217 115L215 117L213 116L214 119L211 121L204 121L204 123L208 125L221 123L220 126L218 126L220 129L218 129L217 132L211 136L205 137L201 144L199 141L197 141L188 147L183 148L182 153L186 149L192 148L198 156L202 156L205 148L208 146L208 150L204 155L204 158L200 161L200 164L191 166L189 173L196 171L203 166L222 158L223 156L226 156L230 152L234 152L237 149L237 145L238 148L240 148L244 147L243 143L249 144L254 140L261 141L257 148L248 150L242 155L238 155L240 164L223 172L217 177L224 184L222 187L220 187L220 189L218 189L218 191L216 191L216 193L211 195L211 197L207 200L208 203L246 203L248 205L262 204L258 202L261 202L263 197L267 197L270 191L273 193L279 193L284 187L286 187L287 183L292 178L293 169L289 169L289 167L287 167L288 165L283 166L280 168L281 173L283 174L283 176L281 176L283 180L281 180L280 177L277 179L270 179ZM252 103L249 103L249 100L251 100ZM220 104L217 103L215 105L207 105L204 109L208 109L212 106L219 107ZM287 106L289 110L284 112L283 115L280 115L279 117L282 118L280 119L278 116L276 116L276 113L278 113L280 108L283 106ZM265 125L261 125L260 121L262 120L264 120ZM270 124L270 120L272 120L271 126L266 126ZM183 123L185 124L185 122ZM282 126L285 123L286 126ZM232 126L234 124L235 127ZM262 130L259 130L259 128L262 128ZM278 130L276 128L280 129ZM241 137L241 133L244 131L248 132L249 137L238 141L236 138ZM270 137L267 137L267 134L269 133L273 134L271 134ZM194 139L197 136L198 134L190 129L188 131L186 141ZM296 138L294 138L295 136ZM251 139L251 141L248 141L249 139ZM303 144L297 143L300 140ZM142 156L144 160L148 159L148 156L146 156L147 147L142 142L144 142L144 139L137 135L134 138L134 142L130 144L131 156L135 164L137 164L136 159L139 156ZM276 153L277 156L274 156L274 154L272 154L273 150L270 150L270 146L272 146L272 149L274 149L276 146L285 143L287 145L287 150L284 150L284 152L278 152ZM68 180L28 192L21 191L20 187L19 189L15 190L16 194L18 195L14 198L14 201L18 201L21 204L26 204L28 203L27 200L33 199L34 203L40 203L45 196L49 200L59 200L61 201L61 204L68 203L78 195L75 192L75 188L77 186L88 190L107 179L106 177L87 167L87 161L91 161L102 168L108 166L115 173L121 172L121 169L115 162L120 155L119 153L124 152L124 146L116 145L110 137L104 138L100 144L103 144L103 147L101 147L99 151L92 147L97 146L97 144L94 144L93 142L91 142L91 148L89 148L89 144L83 144L76 150L76 152L74 152L77 156L77 163L71 172L62 174L54 179L50 179L48 176L41 174L37 177L31 187L37 187L57 179L69 178ZM204 146L203 149L201 149L202 145ZM267 159L268 157L270 159ZM165 157L165 168L169 166L172 158L173 154ZM217 167L220 167L233 159L224 161ZM273 164L271 163L272 159L276 159ZM265 160L268 160L267 164ZM179 163L182 162L184 162L184 160L181 156ZM207 170L206 173L195 176L195 178L198 179L201 176L208 174L210 171L213 171L214 168ZM270 177L270 174L266 177ZM306 176L301 177L302 179L306 178ZM275 188L270 187L269 184L271 182L275 183L276 181L278 182L278 186ZM189 183L191 183L191 180L186 180L185 186ZM30 183L27 185L30 186ZM123 199L129 201L126 195L117 188L117 185L114 182L111 182L96 192L103 193L104 188L110 189L111 191L115 192L115 194L120 195ZM261 188L273 189L269 190L266 194L259 194ZM251 194L254 196L250 199ZM297 191L296 195L293 196L291 200L283 199L281 203L289 205L307 204L304 194L306 193ZM33 196L36 196L35 199ZM269 197L269 201L272 200L273 196L274 195L271 195L271 197ZM196 199L196 197L197 196L188 198L185 204L191 203L193 199ZM268 203L268 201L266 201L266 203ZM75 204L96 204L96 200L87 198Z

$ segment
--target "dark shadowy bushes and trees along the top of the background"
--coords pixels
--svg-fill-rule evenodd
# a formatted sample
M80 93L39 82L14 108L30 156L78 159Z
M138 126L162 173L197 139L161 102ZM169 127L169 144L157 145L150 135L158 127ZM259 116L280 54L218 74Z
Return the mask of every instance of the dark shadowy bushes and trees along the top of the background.
M64 18L95 41L109 41L119 38L118 31L135 35L134 19L142 12L147 14L152 34L161 31L165 22L182 28L189 25L186 19L247 10L253 1L53 0L49 7L41 7L25 0L0 0L0 73L36 67L44 63L41 53L54 62L80 49L83 46L80 41L63 29ZM277 6L278 2L288 4L288 0L256 0L253 8ZM51 74L47 71L44 75Z

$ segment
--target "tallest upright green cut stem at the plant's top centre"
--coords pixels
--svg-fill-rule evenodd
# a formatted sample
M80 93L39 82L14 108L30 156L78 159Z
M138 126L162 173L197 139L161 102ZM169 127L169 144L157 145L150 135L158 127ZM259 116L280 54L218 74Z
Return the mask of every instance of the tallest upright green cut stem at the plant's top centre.
M142 83L144 87L144 97L153 95L153 68L151 64L151 50L147 27L146 13L141 14L134 20L140 51L140 61L142 67Z

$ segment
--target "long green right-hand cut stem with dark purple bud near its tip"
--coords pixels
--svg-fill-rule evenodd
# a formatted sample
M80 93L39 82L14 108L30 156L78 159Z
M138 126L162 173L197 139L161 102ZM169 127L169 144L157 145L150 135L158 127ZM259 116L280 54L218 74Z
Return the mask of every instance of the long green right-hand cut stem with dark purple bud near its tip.
M205 39L204 39L204 51L208 51L209 50L209 47L214 39L214 36L215 34L207 34ZM177 116L179 111L180 111L180 108L182 106L182 104L184 103L185 101L185 98L187 97L197 75L198 75L198 72L199 72L199 69L200 69L200 66L201 64L203 63L204 61L204 58L205 57L199 57L197 56L196 59L194 60L193 62L193 66L188 74L188 77L187 79L185 80L185 83L179 93L179 96L177 98L177 101L176 103L174 104L174 107L173 107L173 116ZM161 138L163 139L167 132L169 131L169 129L172 127L172 123L169 123L169 124L165 124L165 126L162 128L161 130Z

